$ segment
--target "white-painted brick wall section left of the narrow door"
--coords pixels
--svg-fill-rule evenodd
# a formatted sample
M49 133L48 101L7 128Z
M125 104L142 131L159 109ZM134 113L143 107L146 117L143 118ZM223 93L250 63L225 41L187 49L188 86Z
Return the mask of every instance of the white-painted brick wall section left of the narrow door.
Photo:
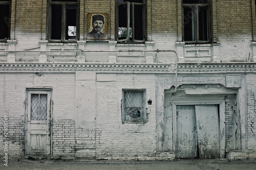
M0 73L1 157L4 154L8 154L8 157L20 157L24 155L24 110L26 99L26 88L24 86L26 86L26 80L28 79L21 74Z

